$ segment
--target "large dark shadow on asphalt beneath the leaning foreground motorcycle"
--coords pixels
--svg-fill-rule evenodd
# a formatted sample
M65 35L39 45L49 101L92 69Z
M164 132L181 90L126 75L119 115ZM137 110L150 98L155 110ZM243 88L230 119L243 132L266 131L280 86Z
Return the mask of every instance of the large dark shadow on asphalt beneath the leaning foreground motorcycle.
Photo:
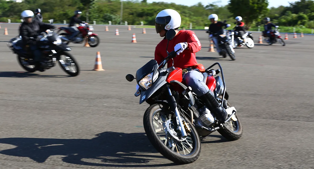
M113 167L149 167L174 166L151 163L154 159L164 159L150 144L145 133L103 132L93 139L44 139L44 138L3 138L0 144L11 144L13 149L1 150L0 154L29 157L43 163L52 155L64 155L62 161L86 166ZM220 140L204 143L219 143L226 140L220 135L213 135ZM212 137L212 136L211 136ZM150 155L158 153L158 155ZM95 162L90 162L91 160ZM87 162L89 161L89 162Z

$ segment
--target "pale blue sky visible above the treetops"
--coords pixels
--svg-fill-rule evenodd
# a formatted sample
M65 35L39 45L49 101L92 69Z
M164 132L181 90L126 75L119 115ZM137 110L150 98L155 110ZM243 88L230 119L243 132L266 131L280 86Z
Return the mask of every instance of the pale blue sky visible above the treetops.
M198 2L203 3L203 5L207 5L208 3L213 3L219 0L147 0L147 2L168 2L168 3L176 3L176 4L182 4L182 5L195 5ZM221 3L218 3L219 5L226 5L228 4L229 0L220 0ZM268 0L268 7L278 7L280 5L288 6L289 2L295 2L296 0Z

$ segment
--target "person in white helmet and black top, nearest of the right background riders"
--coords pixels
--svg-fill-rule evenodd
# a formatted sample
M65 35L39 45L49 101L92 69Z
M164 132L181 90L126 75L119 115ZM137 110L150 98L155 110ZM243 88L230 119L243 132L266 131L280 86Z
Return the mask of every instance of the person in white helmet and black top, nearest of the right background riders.
M217 52L221 56L222 51L221 51L219 44L218 44L218 38L216 36L214 36L214 34L217 34L219 32L223 32L223 30L224 30L223 26L230 27L230 24L226 24L226 23L218 21L218 15L216 15L216 14L209 15L208 20L210 20L212 22L212 24L209 25L209 29L208 29L207 33L209 33L209 37L212 38L214 45L216 46Z

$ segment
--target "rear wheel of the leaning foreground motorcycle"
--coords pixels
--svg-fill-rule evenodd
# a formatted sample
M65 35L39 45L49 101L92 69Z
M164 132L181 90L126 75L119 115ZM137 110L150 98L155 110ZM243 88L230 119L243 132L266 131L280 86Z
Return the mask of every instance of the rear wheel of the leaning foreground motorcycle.
M221 96L219 96L222 99ZM227 108L232 107L229 102L227 102ZM232 120L232 118L226 122L224 128L220 128L217 130L223 137L228 139L229 141L234 141L240 139L242 136L242 124L237 113L235 114L237 121Z

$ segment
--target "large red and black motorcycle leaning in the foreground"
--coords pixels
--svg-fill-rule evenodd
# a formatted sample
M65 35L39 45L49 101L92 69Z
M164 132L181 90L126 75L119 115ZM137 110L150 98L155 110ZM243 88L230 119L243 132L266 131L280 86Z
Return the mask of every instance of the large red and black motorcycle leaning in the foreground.
M175 35L175 30L168 30L168 43ZM182 78L185 70L173 66L164 68L169 59L176 57L178 51L167 51L168 56L160 65L156 60L150 60L137 70L136 78L128 74L126 79L130 82L136 79L139 89L134 95L140 95L139 104L146 101L150 105L144 113L143 125L151 144L176 164L188 164L196 161L201 153L200 136L205 138L217 130L226 139L236 140L242 136L242 125L235 107L227 101L229 95L220 64L214 63L207 68L203 73L203 81L228 113L224 124L191 91L191 87L185 85ZM213 77L220 73L219 69L211 69L215 65L219 65L222 79L219 76Z

